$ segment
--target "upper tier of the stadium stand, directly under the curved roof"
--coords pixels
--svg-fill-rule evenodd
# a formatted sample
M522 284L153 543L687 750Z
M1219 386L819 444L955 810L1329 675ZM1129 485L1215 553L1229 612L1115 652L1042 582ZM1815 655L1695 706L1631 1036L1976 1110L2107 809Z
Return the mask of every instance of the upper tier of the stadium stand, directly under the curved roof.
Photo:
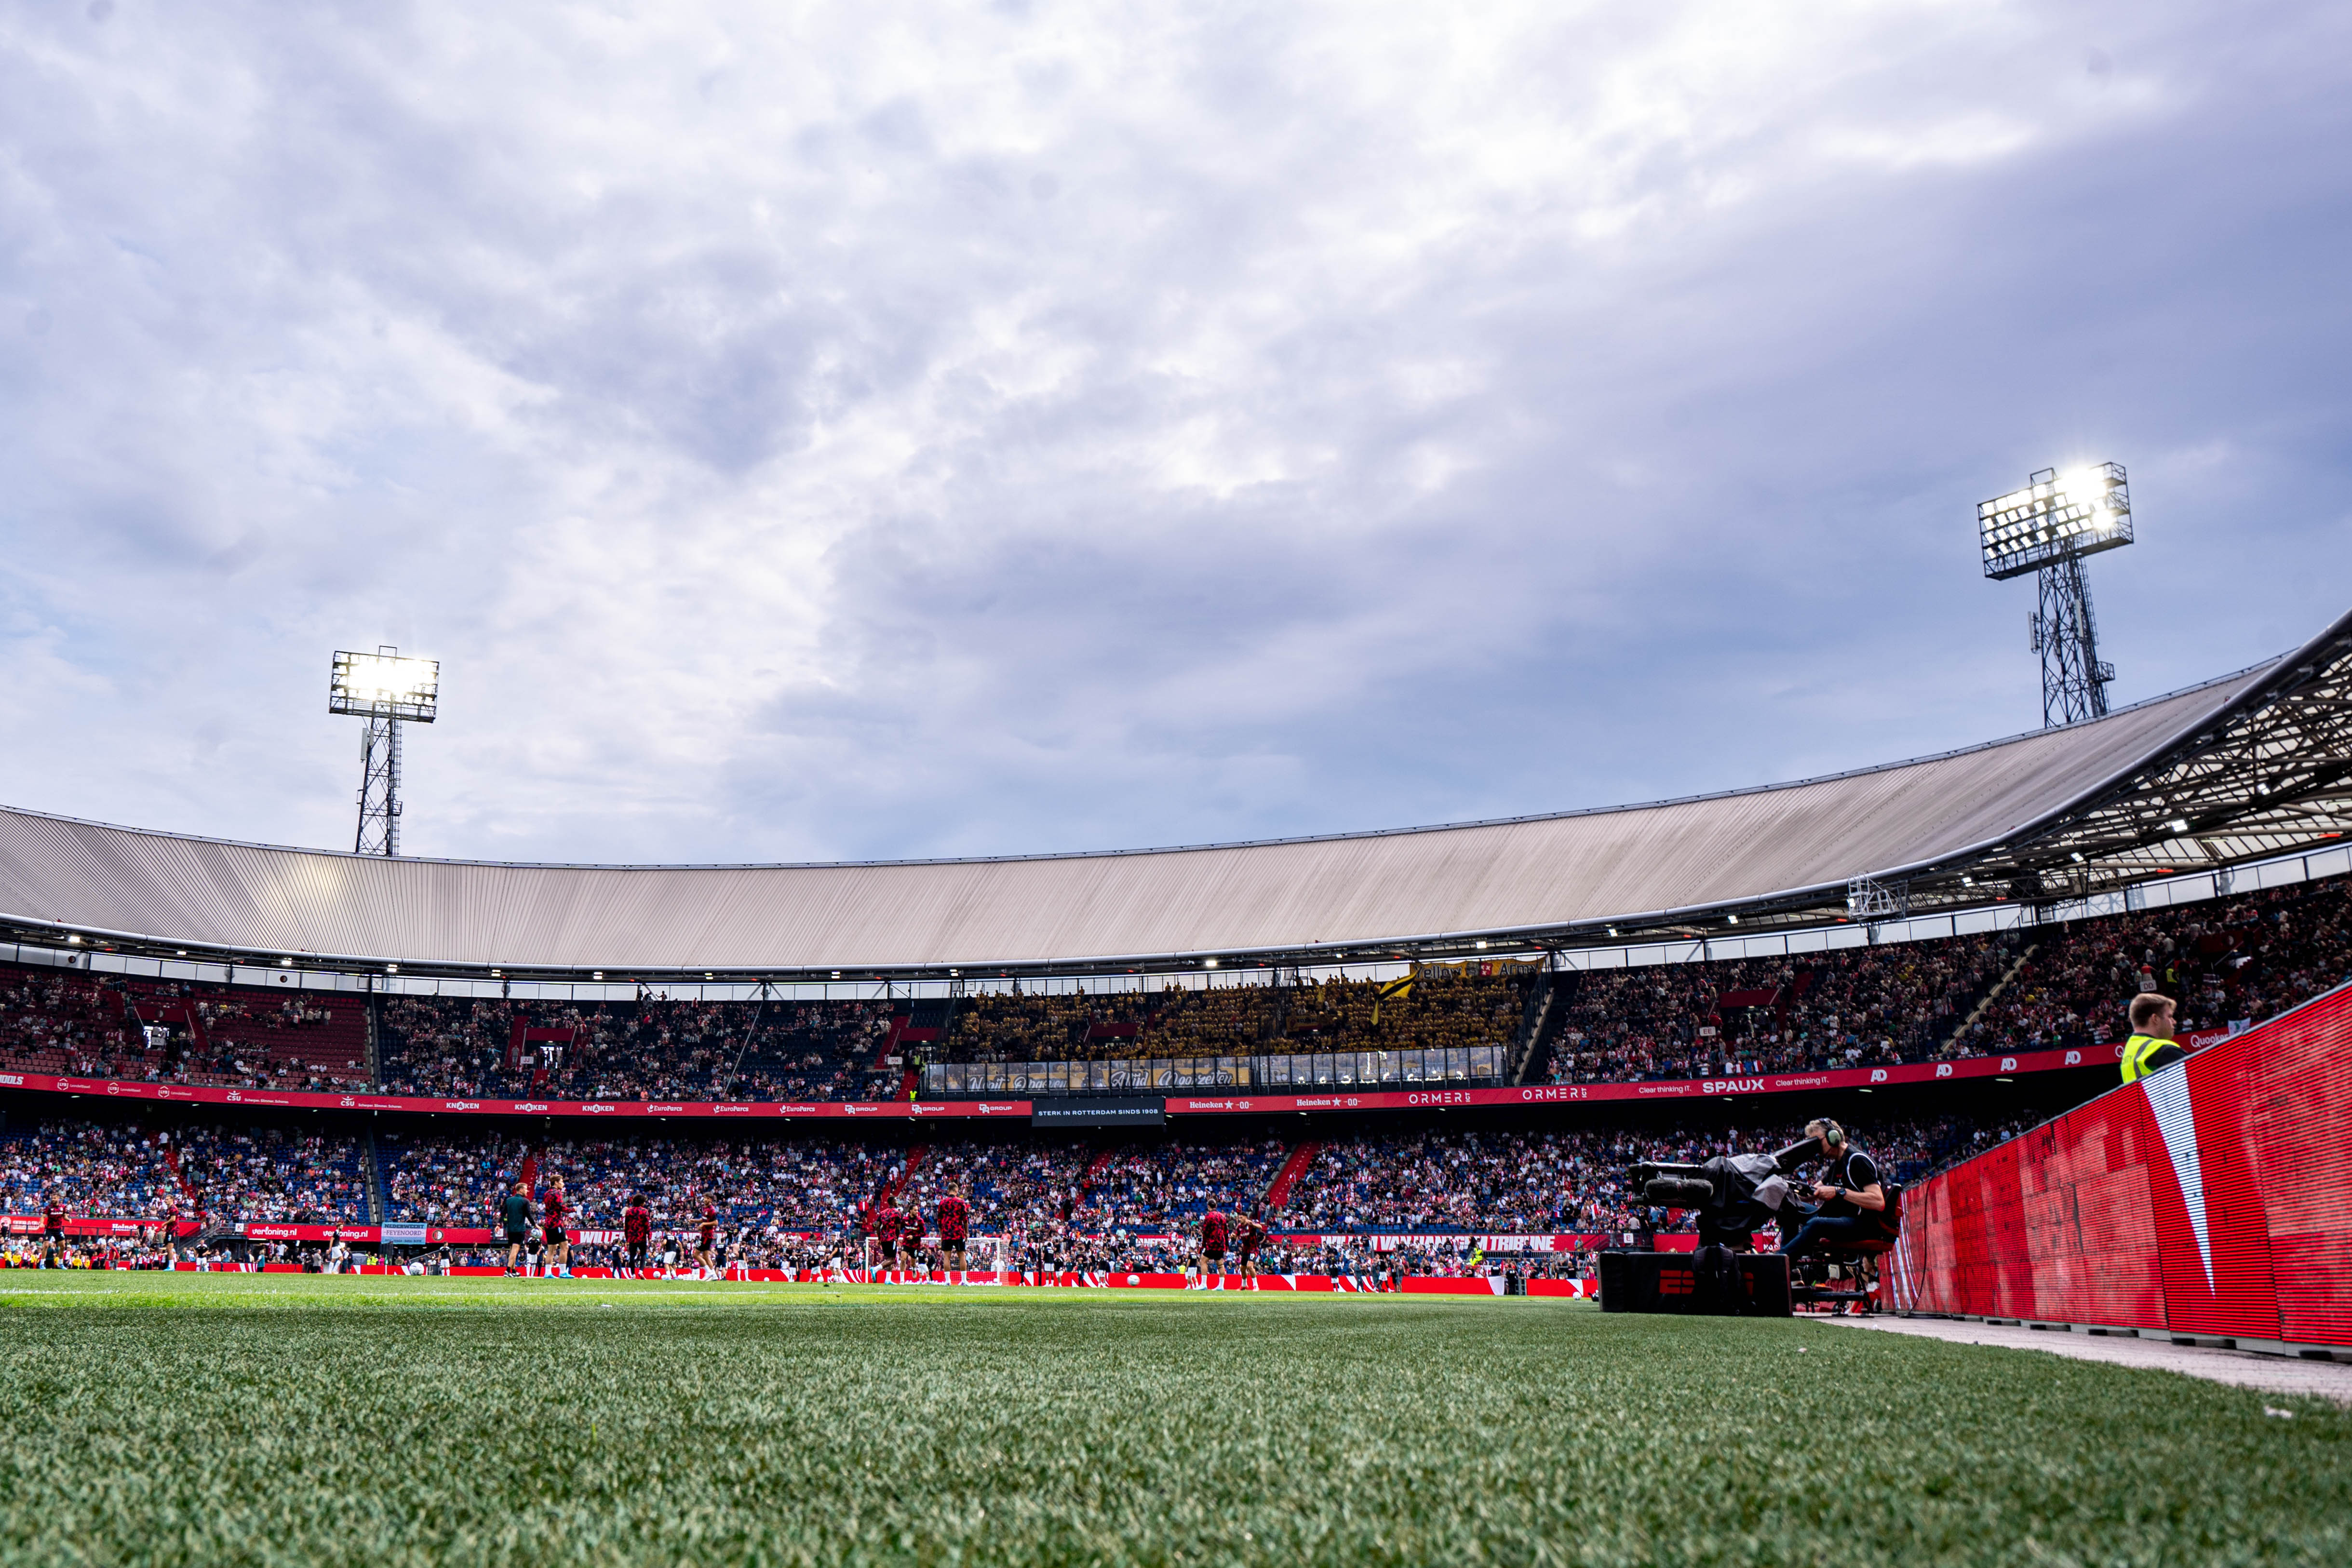
M2267 1018L2352 976L2345 882L1806 959L1548 978L1517 964L1423 966L1385 997L1369 980L981 992L915 1004L920 1025L887 1001L390 997L381 1084L367 1081L365 1004L350 997L0 966L0 1067L407 1095L858 1100L906 1088L882 1063L898 1039L950 1060L1094 1063L1512 1044L1529 987L1545 983L1566 1004L1538 1081L1917 1063L2114 1041L2131 994L2150 987L2180 999L2185 1030Z

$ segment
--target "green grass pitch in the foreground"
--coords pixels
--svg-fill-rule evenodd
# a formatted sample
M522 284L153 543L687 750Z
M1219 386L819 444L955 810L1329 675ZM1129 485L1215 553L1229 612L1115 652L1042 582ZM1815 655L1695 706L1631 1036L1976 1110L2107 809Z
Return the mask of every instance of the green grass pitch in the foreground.
M12 1566L2352 1563L2333 1406L1832 1324L9 1272L0 1345Z

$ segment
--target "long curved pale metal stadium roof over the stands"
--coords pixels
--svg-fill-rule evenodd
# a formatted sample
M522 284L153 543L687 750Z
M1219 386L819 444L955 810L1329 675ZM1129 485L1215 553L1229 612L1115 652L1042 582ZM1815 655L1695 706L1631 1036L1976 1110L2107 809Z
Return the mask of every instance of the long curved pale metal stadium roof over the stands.
M2340 837L2347 663L2352 614L2284 658L2105 719L1830 778L1124 853L506 865L0 809L0 924L407 971L847 978L1449 957L2070 898Z

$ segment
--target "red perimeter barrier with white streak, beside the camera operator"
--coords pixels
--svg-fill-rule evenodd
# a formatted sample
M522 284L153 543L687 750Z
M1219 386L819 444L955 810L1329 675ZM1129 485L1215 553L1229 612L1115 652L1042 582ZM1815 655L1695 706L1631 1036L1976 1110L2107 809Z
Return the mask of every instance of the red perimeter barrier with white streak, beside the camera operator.
M2352 1347L2352 985L1905 1197L1893 1307Z

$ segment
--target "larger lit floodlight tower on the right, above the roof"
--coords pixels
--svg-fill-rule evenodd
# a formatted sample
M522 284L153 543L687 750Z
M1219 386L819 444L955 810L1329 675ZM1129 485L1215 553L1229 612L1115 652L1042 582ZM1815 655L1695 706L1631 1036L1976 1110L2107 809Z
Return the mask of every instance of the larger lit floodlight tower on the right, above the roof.
M2006 581L2037 571L2042 604L2027 618L2042 656L2042 726L2082 724L2107 712L2114 665L2098 658L2086 555L2131 543L2131 487L2122 463L2039 468L2025 489L1976 508L1985 576Z

